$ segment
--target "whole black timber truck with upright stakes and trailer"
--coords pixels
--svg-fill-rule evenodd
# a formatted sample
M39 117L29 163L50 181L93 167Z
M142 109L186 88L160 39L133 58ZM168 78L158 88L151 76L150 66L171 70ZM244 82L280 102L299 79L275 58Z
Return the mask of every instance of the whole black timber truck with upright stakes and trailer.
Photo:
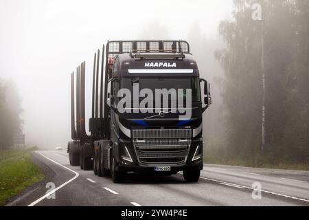
M105 54L104 54L105 53ZM76 89L74 88L76 78ZM203 87L203 92L201 92ZM71 166L111 175L203 169L203 112L210 85L186 41L108 41L94 54L90 135L85 129L85 62L71 74Z

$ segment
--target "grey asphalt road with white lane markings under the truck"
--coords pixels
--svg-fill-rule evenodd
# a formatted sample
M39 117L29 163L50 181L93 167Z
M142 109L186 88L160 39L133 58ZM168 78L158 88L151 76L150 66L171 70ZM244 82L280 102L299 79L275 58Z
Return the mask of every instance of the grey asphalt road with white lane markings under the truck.
M45 181L8 206L309 206L309 172L205 164L201 180L129 174L126 183L69 165L65 151L37 151ZM52 182L55 189L46 188ZM256 188L260 187L260 188ZM55 198L47 198L54 189ZM258 190L256 190L258 189ZM254 199L253 199L254 197Z

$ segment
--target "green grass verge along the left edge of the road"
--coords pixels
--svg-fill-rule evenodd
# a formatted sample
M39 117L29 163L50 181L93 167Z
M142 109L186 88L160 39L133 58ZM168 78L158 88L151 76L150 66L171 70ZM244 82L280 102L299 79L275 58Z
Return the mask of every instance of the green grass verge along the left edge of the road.
M30 150L0 151L0 205L28 186L44 179L32 162Z

